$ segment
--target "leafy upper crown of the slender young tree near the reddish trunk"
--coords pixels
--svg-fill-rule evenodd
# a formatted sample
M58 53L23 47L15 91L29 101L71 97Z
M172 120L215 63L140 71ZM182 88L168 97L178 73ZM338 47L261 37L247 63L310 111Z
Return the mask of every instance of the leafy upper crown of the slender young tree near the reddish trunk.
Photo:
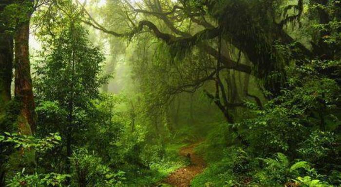
M47 55L42 54L44 60L36 66L37 94L46 100L48 96L64 109L70 99L76 106L85 107L98 96L98 87L105 82L99 77L104 57L98 48L88 46L79 23L66 24L66 30L49 41L51 45L44 51Z

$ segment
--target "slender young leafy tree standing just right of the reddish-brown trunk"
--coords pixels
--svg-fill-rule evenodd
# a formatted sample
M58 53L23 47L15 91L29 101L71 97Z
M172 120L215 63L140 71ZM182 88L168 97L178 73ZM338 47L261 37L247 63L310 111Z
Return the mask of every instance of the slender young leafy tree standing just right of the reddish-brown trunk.
M73 145L81 141L76 134L87 129L84 120L93 107L91 101L106 79L99 77L104 57L98 48L88 46L80 23L68 18L62 23L64 30L50 37L44 60L37 66L36 87L40 100L54 102L58 108L62 121L53 128L66 139L66 156L71 157ZM66 161L69 173L70 161Z

